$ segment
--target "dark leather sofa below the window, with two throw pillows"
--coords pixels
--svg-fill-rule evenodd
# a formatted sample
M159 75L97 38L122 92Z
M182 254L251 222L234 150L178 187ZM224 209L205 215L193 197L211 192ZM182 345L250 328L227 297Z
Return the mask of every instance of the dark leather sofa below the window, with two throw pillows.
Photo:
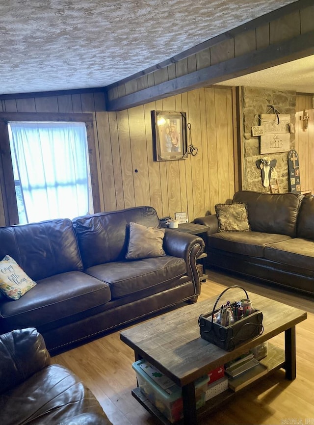
M143 319L200 293L202 238L166 229L166 255L126 260L129 223L160 227L152 207L0 228L12 257L37 285L0 296L0 333L35 327L51 354Z

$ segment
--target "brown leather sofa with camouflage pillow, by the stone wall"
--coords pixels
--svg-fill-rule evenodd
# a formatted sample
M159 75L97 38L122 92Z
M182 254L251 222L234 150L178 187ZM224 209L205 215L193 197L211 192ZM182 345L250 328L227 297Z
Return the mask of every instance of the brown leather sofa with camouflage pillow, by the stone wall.
M232 202L247 204L250 231L218 233L215 214L194 220L210 226L207 266L314 294L314 196L243 190Z

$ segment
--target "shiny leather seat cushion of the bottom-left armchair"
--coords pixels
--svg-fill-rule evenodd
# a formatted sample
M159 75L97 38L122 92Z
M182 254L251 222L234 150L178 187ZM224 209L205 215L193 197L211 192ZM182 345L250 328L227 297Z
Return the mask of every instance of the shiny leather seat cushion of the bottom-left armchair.
M1 425L59 424L84 412L104 416L90 390L60 365L36 372L0 396L0 412Z

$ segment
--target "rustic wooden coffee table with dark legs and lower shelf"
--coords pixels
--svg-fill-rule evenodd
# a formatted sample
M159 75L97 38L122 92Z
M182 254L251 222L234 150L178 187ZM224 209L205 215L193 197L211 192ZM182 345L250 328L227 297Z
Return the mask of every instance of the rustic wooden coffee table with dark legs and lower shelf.
M233 289L229 296L232 300L241 299L243 291ZM199 377L282 332L285 332L285 349L268 344L268 355L262 362L268 367L267 373L283 368L287 379L295 379L295 325L305 320L307 313L252 292L249 292L249 296L252 305L263 313L264 332L230 352L200 337L198 318L211 311L217 297L184 306L120 333L121 340L134 350L135 360L146 359L182 387L184 419L177 424L197 425L198 417L237 394L228 389L196 410L194 382ZM161 424L170 424L139 388L132 390L132 395Z

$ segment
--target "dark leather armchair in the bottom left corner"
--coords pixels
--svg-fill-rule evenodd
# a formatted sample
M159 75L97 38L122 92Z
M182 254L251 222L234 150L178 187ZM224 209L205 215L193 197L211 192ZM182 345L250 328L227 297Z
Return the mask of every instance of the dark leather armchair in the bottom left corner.
M1 425L112 425L73 372L51 364L34 328L0 335Z

